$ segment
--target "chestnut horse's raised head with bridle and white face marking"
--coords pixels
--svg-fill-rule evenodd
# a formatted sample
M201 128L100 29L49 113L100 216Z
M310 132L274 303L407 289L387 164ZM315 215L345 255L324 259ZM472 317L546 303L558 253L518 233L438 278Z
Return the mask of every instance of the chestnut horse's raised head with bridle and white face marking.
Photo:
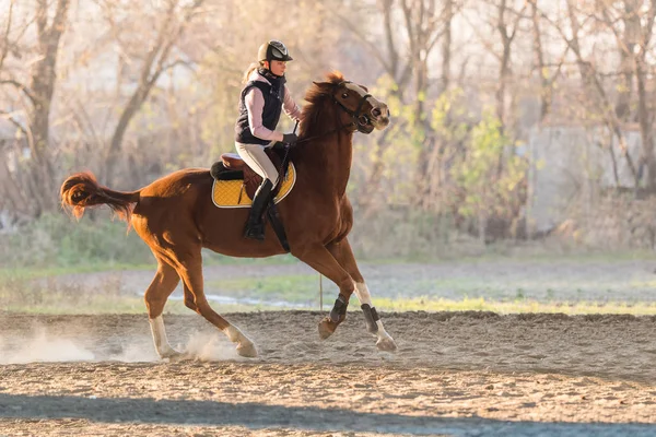
M329 74L328 80L329 82L315 82L315 86L340 107L343 125L353 123L363 133L371 133L374 129L382 130L389 125L387 105L372 96L366 87L345 81L340 73Z

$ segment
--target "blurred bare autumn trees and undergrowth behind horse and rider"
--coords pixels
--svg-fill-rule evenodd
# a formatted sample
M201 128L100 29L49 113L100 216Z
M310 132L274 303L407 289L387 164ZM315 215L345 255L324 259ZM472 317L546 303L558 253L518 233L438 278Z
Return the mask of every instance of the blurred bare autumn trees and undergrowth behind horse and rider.
M628 287L639 294L621 300L652 300L655 14L643 0L0 0L4 308L26 290L45 298L52 277L73 277L62 293L91 286L84 271L147 265L143 284L130 276L145 288L147 246L106 211L73 223L61 181L89 169L133 190L210 167L234 150L243 74L267 39L294 57L298 104L340 70L390 107L390 128L354 137L348 188L351 241L380 288L406 277L385 263L414 262L415 296L606 302ZM455 259L473 267L458 276ZM315 286L293 269L278 288Z

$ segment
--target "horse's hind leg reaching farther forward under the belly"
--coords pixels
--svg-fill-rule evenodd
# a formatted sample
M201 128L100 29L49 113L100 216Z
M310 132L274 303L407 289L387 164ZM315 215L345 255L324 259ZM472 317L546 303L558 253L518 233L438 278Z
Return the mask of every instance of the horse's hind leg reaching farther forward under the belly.
M223 331L230 341L237 343L239 355L246 357L257 356L257 350L250 339L210 307L203 291L201 260L200 249L197 255L178 260L177 272L185 284L185 305Z

